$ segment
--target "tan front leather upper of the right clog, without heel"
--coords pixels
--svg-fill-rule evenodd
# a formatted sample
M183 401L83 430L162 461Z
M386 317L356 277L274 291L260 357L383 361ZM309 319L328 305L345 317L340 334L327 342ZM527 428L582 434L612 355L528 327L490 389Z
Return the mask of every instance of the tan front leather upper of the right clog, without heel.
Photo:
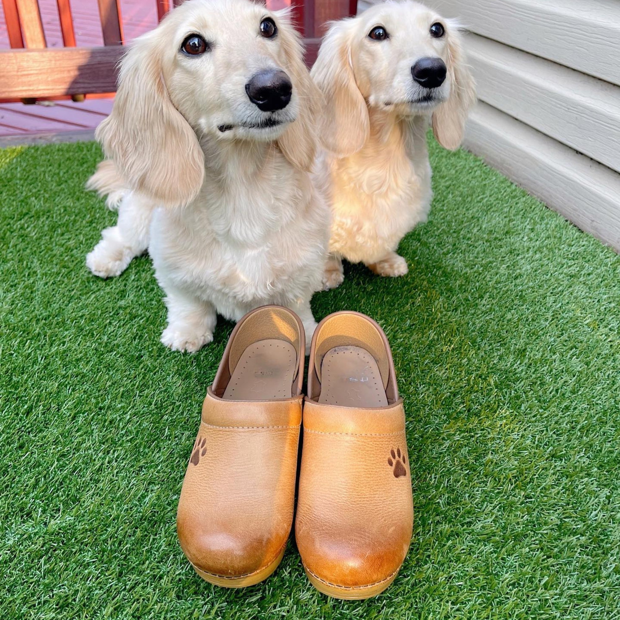
M306 569L348 588L386 580L407 555L413 516L402 401L355 410L306 399L295 521Z

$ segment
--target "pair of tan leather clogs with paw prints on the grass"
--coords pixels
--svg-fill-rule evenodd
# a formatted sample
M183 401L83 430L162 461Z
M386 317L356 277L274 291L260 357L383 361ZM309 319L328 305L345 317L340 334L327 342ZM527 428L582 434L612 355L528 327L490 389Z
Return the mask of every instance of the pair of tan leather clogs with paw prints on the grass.
M337 598L375 596L396 578L413 528L405 416L383 330L336 312L312 338L280 306L232 331L202 408L177 513L196 572L224 587L267 578L293 525L312 585Z

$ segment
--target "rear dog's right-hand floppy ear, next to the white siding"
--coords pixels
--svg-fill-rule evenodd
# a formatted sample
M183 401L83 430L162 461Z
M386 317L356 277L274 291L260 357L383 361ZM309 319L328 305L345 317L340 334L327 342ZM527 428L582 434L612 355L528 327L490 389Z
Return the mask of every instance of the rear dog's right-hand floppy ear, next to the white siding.
M458 149L463 142L469 108L476 102L476 84L465 63L458 25L449 25L448 76L450 96L433 113L433 133L446 149Z

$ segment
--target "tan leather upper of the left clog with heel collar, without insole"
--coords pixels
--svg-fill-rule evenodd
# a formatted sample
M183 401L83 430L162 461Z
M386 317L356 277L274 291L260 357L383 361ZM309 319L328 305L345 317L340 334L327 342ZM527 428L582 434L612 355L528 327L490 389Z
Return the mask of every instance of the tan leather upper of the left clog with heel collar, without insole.
M287 319L283 313L292 315L262 308L248 316L259 312L252 329L240 331L244 319L237 324L216 382L208 389L177 511L185 556L197 569L218 577L244 577L270 565L286 545L293 523L303 400L297 376L288 399L233 401L215 392L224 392L234 363L253 339L280 336L266 329L270 317L280 324ZM303 376L303 328L295 319L281 324L301 352ZM241 347L237 334L244 340Z

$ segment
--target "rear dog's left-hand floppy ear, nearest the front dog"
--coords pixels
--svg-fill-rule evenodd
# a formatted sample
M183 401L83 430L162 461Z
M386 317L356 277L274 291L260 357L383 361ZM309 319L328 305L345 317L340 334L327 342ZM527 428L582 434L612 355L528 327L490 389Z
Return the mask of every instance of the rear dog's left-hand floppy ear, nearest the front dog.
M354 22L334 22L312 67L314 83L325 97L321 138L339 156L359 151L370 135L368 108L353 74L351 45Z

